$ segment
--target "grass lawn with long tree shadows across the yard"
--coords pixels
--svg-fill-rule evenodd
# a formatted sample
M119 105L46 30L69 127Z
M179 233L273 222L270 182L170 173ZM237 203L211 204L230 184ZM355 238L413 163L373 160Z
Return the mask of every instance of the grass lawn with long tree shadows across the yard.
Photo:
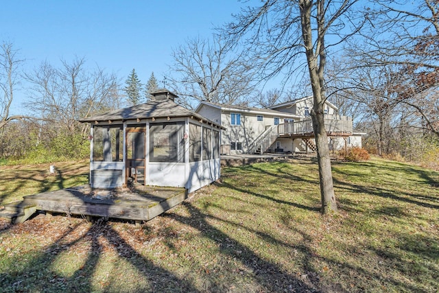
M0 180L37 169L0 169ZM340 211L322 216L317 172L306 160L228 167L221 182L140 228L43 215L0 222L2 290L436 292L439 173L335 162ZM78 179L62 174L62 185ZM59 185L37 181L16 184Z

